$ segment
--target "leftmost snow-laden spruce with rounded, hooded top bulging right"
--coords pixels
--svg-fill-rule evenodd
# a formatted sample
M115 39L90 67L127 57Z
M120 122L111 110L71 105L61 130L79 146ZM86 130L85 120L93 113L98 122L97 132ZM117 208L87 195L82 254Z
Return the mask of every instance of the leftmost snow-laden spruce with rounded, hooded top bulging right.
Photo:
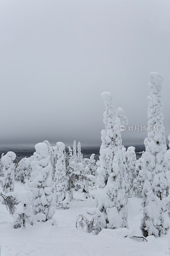
M14 152L9 151L2 157L3 172L4 172L4 193L12 192L14 189L14 169L13 161L16 155Z

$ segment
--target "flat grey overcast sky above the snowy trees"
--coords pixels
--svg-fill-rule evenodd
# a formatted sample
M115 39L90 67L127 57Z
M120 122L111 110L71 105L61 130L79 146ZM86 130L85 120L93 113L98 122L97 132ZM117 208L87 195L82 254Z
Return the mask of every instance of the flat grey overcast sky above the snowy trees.
M1 144L100 145L101 92L147 125L148 74L164 76L170 133L170 1L0 1ZM146 132L123 132L143 143Z

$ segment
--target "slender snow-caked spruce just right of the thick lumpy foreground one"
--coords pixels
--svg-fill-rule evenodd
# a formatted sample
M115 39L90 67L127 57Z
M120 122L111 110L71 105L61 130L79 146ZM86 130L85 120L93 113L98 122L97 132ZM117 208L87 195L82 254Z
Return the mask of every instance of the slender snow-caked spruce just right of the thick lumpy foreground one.
M57 155L57 162L55 164L55 193L56 193L56 208L68 209L70 196L68 192L68 181L66 178L66 168L64 151L65 145L63 142L57 142L55 146L55 154Z

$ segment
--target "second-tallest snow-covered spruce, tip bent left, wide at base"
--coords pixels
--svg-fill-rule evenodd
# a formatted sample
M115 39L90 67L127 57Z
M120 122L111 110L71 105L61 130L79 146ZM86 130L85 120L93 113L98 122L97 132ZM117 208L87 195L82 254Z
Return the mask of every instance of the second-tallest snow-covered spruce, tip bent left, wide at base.
M123 177L121 121L117 116L115 102L110 92L101 94L106 111L101 131L100 166L98 184L101 188L96 196L97 208L94 215L94 232L103 228L124 228L127 224L125 181Z

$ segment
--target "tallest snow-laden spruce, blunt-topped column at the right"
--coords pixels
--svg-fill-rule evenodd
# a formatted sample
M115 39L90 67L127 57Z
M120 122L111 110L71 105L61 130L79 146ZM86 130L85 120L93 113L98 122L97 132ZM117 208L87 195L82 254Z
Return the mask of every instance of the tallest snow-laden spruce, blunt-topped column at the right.
M142 169L146 180L142 190L144 217L141 220L143 235L155 237L166 234L169 228L167 213L168 181L166 178L166 141L163 125L163 104L161 87L163 77L159 73L149 74L148 96L148 137L144 140L146 151L143 154Z

